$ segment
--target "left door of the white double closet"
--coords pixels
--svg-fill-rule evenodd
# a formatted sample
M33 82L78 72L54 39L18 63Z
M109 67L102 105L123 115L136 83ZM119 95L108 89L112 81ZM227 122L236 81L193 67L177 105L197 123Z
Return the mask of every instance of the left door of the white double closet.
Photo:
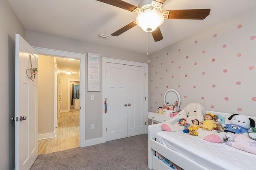
M106 63L106 141L127 137L126 65Z

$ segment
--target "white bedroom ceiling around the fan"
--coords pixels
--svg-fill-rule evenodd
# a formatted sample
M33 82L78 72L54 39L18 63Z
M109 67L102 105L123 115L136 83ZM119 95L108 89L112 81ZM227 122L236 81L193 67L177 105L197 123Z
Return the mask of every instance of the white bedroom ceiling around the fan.
M133 12L96 0L7 0L26 30L74 40L145 53L147 33L135 26L109 40L110 35L136 19ZM138 6L140 0L124 0ZM204 20L164 20L164 37L154 42L150 35L150 53L210 28L256 6L256 0L166 0L163 10L210 8Z

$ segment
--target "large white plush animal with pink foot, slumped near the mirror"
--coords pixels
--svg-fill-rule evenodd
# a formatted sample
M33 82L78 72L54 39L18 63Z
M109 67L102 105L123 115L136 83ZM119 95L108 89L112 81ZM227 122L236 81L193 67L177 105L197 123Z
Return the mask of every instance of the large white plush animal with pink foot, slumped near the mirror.
M186 119L186 122L190 125L192 120L197 119L198 121L204 120L205 110L204 107L199 103L190 103L182 111L180 111L177 121L179 119ZM162 124L162 130L165 131L181 131L184 130L184 127L178 125L178 123L172 125L170 123Z

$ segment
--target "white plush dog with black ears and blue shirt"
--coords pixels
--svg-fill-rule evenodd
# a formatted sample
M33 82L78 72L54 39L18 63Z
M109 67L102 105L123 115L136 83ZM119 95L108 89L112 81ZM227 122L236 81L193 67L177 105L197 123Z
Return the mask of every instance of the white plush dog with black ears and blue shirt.
M230 124L223 124L225 130L220 132L224 139L230 138L236 133L247 133L249 128L255 127L255 121L246 115L233 114L228 120L230 120Z

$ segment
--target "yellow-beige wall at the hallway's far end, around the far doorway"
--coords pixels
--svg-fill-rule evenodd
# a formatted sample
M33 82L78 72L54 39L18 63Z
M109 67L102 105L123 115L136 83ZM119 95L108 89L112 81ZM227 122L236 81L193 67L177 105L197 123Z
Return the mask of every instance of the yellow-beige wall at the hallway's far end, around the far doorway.
M78 74L67 75L65 73L60 73L60 111L68 110L68 89L70 88L68 80L79 80ZM71 91L70 91L71 93Z

